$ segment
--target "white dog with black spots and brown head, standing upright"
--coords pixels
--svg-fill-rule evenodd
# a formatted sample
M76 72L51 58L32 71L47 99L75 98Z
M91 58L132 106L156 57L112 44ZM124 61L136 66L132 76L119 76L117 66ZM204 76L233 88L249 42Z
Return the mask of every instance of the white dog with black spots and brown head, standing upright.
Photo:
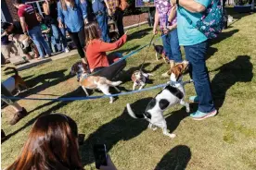
M176 135L171 134L167 130L166 120L163 116L163 112L169 107L180 103L186 106L186 112L190 112L189 104L184 101L185 99L185 89L184 86L187 83L192 82L190 79L183 82L183 73L188 67L188 62L183 61L177 64L173 68L170 68L171 81L170 83L160 91L154 99L152 99L148 104L145 113L137 114L131 108L131 105L127 103L128 114L134 118L144 118L149 122L148 128L156 130L157 127L162 128L164 135L174 138Z

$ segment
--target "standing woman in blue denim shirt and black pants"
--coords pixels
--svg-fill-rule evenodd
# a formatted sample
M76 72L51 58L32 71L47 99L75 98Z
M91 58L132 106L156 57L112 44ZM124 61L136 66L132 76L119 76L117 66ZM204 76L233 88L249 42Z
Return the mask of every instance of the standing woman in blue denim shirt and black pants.
M75 43L84 64L86 59L83 51L85 46L83 26L87 23L86 6L85 0L60 0L58 2L58 27L67 26L70 38Z

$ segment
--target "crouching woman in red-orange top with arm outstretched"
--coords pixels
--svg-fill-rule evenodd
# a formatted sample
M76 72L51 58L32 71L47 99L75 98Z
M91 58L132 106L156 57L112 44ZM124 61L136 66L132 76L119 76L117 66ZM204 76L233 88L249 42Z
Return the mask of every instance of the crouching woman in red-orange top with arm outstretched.
M120 48L127 40L126 33L122 35L117 42L108 43L100 40L101 31L96 22L91 22L85 25L84 31L86 58L91 72L97 72L98 70L107 67L106 69L97 72L96 75L107 79L113 79L126 66L126 62L125 60L122 60L109 67L112 63L117 62L120 59L120 56L117 54L107 56L106 52Z

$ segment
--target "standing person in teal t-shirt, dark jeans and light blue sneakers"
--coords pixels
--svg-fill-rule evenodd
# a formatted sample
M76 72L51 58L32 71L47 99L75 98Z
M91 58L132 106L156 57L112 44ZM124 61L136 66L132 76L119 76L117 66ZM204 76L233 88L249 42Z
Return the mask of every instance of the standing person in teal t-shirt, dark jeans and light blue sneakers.
M192 96L189 100L198 103L198 111L190 116L195 120L202 120L217 114L212 100L211 82L205 62L208 42L207 37L194 28L186 17L196 23L202 17L203 11L211 5L211 0L172 0L172 4L178 6L179 42L185 48L190 76L194 80L197 92L197 96Z

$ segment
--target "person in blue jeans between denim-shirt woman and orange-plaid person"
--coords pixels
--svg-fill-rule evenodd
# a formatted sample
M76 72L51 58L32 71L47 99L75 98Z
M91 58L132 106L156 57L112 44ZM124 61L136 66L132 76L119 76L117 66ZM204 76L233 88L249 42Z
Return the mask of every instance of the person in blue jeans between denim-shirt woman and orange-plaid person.
M106 1L106 0L104 0ZM107 8L103 0L93 0L93 11L96 15L98 26L101 30L101 38L104 42L110 42Z

